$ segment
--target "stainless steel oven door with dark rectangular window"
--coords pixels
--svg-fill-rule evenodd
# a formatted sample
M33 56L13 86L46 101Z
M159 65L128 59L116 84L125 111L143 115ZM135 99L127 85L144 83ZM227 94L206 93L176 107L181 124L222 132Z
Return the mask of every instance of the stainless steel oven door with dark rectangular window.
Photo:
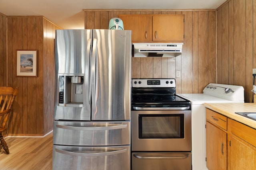
M191 110L132 111L132 151L191 151Z

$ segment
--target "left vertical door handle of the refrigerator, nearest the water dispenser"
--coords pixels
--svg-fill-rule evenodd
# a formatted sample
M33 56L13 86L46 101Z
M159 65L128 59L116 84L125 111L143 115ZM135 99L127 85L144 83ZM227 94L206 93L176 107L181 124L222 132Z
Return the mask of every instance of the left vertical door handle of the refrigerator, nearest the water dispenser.
M90 83L89 83L89 69L90 69L90 63L91 63L91 56L90 56L90 51L91 51L91 41L92 39L88 39L87 41L87 49L86 49L86 61L85 61L85 75L86 75L86 78L88 80L85 81L85 91L86 91L86 94L89 94L89 95L85 95L85 103L86 103L86 110L90 110L90 96L91 96L91 86L90 86Z

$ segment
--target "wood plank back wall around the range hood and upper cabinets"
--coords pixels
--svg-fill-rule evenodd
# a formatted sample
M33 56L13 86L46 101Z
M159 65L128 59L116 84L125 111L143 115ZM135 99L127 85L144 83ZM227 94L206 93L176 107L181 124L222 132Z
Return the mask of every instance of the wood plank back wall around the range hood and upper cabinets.
M216 83L216 10L84 10L84 14L85 29L108 29L109 20L119 14L184 14L182 55L132 58L132 78L176 78L176 93L202 93L207 84Z

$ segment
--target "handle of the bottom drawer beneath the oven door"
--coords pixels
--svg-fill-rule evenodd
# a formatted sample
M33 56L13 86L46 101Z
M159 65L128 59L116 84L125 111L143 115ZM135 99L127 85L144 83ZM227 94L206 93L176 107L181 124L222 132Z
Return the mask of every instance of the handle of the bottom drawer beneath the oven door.
M154 156L156 154L156 156ZM178 153L175 156L174 153L134 153L133 156L138 159L186 159L188 158L188 153Z

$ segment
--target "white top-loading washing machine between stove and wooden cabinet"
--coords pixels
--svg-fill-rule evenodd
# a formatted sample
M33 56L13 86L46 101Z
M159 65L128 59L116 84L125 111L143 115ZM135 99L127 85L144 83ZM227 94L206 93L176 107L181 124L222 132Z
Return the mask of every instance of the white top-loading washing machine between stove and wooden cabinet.
M226 84L208 84L203 94L176 94L191 102L192 169L206 168L206 109L204 103L244 103L244 88Z

